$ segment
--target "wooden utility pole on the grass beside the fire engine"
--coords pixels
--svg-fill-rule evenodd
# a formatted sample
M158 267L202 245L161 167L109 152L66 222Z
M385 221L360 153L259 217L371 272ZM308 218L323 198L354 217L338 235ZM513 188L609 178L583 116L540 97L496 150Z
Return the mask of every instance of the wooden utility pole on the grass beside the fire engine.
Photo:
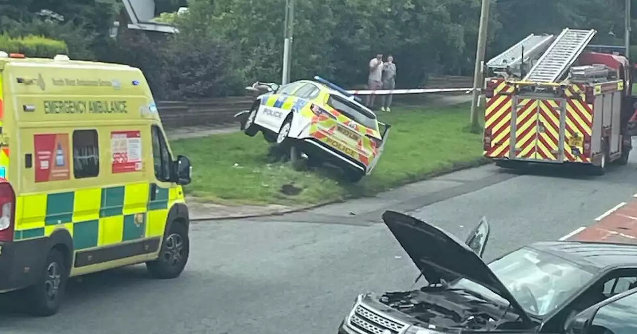
M484 55L487 50L487 28L489 25L489 2L482 0L480 10L480 27L478 29L478 47L476 50L475 71L473 71L473 102L471 103L471 132L479 132L478 101L482 94Z

